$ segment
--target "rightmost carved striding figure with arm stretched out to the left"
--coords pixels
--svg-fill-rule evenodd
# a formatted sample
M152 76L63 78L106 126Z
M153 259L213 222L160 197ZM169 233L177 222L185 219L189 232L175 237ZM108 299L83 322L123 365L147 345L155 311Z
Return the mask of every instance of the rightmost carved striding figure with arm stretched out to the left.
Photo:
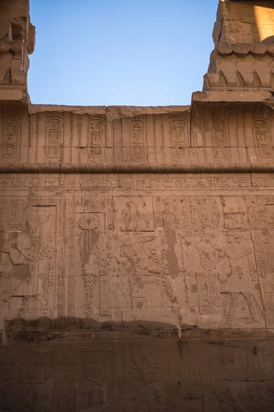
M235 230L213 233L188 233L182 236L187 247L194 245L200 263L205 271L216 273L220 284L220 294L227 295L227 325L231 325L238 310L240 295L244 297L253 322L258 322L260 306L251 284L247 257L253 253L249 233Z

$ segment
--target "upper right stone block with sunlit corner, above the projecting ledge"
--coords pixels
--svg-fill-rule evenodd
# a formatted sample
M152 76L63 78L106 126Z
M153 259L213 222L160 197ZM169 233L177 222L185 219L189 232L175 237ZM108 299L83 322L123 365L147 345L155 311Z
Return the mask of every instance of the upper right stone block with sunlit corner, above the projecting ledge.
M204 90L273 91L273 2L220 1L213 39Z

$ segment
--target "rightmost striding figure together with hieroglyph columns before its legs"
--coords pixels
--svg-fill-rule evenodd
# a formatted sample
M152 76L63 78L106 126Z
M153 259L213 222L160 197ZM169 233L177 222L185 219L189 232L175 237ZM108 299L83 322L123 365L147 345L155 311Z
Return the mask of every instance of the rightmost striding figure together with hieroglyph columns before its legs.
M247 269L247 258L253 253L249 233L231 230L212 232L211 236L209 233L183 236L189 249L185 249L187 261L187 256L192 253L191 244L196 247L200 260L200 264L196 265L200 313L220 314L221 307L225 305L225 324L232 325L240 308L239 299L244 298L244 305L247 305L252 322L258 323L259 314L262 313ZM187 271L187 262L185 265ZM203 272L199 271L199 267L203 268ZM195 268L192 267L192 270L195 271ZM225 301L224 297L227 297Z

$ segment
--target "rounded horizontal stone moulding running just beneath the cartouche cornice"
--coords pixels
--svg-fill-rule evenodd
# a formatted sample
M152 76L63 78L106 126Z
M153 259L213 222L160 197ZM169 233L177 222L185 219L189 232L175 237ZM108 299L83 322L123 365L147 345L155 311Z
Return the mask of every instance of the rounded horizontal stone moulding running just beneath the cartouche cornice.
M177 164L177 163L17 163L0 164L1 173L250 173L268 172L274 173L274 165L271 164Z

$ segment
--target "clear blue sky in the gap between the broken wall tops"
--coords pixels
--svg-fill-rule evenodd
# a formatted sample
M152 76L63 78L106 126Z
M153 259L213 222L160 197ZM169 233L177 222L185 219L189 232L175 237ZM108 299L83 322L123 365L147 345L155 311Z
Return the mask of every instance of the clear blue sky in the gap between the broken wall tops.
M30 0L32 103L190 104L218 0Z

